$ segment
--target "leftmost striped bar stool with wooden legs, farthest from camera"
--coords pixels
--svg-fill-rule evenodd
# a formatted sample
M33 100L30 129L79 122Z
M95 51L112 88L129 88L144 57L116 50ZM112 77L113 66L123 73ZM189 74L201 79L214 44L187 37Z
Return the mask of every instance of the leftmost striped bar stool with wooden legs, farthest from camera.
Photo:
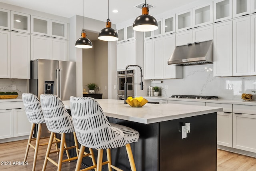
M42 123L45 123L44 116L42 113L42 108L39 99L36 97L36 95L32 93L22 93L22 101L24 104L25 112L28 117L28 121L32 123L30 135L28 138L28 144L26 148L26 153L24 157L24 162L26 162L28 157L28 151L30 146L35 150L34 152L34 161L33 161L33 168L32 171L36 169L36 159L37 159L37 153L38 153L38 147L42 145L48 145L48 143L41 143L40 144L40 135L41 135L41 128ZM32 139L33 132L35 125L38 124L38 131L37 131L37 137ZM36 140L36 145L33 145L31 141ZM56 139L56 136L54 135L54 142L53 143L59 143L60 140ZM58 149L58 146L56 145L56 149Z

